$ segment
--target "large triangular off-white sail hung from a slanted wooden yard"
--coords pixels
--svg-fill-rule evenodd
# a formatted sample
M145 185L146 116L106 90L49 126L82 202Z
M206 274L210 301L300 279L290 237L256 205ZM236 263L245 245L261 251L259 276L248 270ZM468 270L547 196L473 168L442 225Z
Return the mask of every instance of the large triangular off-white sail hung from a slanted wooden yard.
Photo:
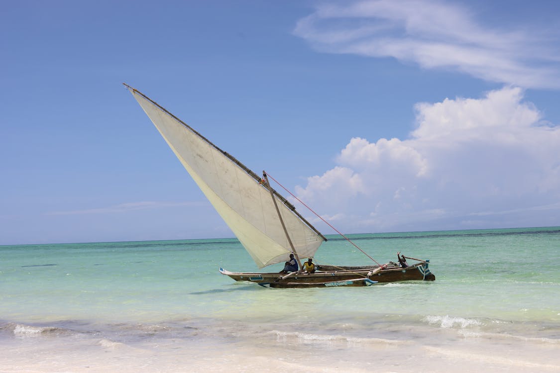
M286 261L292 249L268 189L189 126L129 89L256 265ZM274 198L298 256L313 256L324 238Z

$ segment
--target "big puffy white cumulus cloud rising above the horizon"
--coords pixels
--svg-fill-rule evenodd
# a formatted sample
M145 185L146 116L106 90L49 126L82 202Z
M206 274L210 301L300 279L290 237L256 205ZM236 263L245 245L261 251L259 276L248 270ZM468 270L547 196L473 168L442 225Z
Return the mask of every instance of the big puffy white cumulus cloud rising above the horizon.
M419 103L416 124L405 140L351 139L296 192L347 232L558 224L560 126L522 89Z

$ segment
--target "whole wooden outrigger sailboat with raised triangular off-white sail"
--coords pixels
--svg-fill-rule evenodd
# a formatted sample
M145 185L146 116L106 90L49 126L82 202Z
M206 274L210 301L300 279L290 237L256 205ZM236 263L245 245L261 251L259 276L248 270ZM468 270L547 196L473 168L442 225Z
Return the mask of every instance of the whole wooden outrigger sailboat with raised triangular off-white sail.
M259 176L151 98L123 84L259 268L286 262L290 254L297 260L298 268L302 268L301 259L315 255L326 238L270 186L267 173L263 171ZM220 272L233 280L256 282L264 287L371 286L435 280L428 260L409 259L417 263L317 265L314 273L230 272L223 268Z

